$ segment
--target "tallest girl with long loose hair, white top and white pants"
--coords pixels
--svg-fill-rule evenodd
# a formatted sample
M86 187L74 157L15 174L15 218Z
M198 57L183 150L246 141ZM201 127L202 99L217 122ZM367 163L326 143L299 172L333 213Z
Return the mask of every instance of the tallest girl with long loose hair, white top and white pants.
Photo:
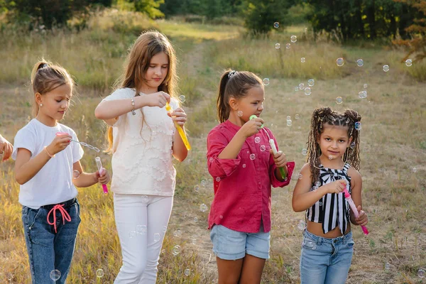
M114 214L123 265L114 283L155 283L173 207L175 168L187 149L175 131L185 111L175 98L175 51L162 33L136 39L116 89L95 110L109 124ZM175 110L168 114L166 102ZM112 141L114 141L112 143Z

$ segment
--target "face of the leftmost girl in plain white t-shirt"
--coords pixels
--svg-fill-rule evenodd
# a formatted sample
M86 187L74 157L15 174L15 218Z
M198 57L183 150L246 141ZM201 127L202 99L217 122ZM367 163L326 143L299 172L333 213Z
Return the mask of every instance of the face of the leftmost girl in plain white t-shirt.
M71 97L72 87L69 84L62 84L45 94L35 94L35 100L39 105L38 116L54 121L63 119L70 107ZM40 104L43 106L40 107Z

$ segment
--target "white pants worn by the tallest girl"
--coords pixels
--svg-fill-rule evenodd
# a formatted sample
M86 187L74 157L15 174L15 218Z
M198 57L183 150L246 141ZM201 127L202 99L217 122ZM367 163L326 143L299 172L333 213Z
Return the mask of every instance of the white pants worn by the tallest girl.
M173 197L114 194L123 266L114 284L155 283Z

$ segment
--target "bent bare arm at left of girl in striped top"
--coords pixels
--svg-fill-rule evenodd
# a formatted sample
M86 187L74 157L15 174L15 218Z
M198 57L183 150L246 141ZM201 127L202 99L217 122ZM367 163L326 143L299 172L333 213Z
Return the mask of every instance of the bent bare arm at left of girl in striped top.
M292 205L295 212L305 211L327 193L340 193L345 187L342 180L337 180L311 191L312 182L309 164L303 165L300 173L302 174L302 179L297 180L295 190L293 191Z

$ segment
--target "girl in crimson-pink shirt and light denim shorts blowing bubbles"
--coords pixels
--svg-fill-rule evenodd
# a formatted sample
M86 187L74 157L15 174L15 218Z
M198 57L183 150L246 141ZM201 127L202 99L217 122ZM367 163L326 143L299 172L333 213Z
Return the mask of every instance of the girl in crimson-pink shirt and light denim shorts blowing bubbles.
M271 185L288 185L295 167L282 151L273 154L269 140L278 148L275 137L259 117L263 101L258 76L224 72L217 97L221 124L207 137L207 165L214 179L209 229L219 284L261 283L269 258Z

